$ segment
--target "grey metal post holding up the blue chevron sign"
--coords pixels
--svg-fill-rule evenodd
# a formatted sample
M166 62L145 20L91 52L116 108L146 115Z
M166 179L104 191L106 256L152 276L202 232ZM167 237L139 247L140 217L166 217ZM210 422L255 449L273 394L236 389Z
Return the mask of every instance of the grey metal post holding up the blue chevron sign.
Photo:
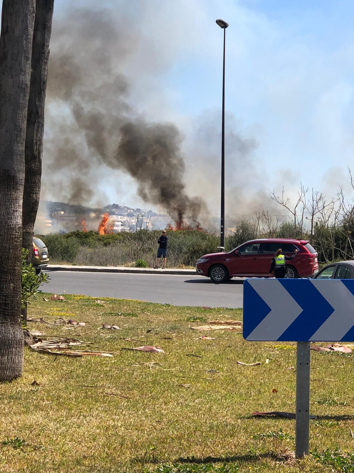
M310 342L297 342L295 456L309 454Z

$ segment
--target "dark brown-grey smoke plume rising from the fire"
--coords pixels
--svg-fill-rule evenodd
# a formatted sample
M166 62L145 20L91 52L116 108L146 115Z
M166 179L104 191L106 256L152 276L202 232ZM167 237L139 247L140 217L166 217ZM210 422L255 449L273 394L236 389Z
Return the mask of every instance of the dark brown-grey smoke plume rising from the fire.
M47 186L54 186L57 200L86 204L98 198L104 165L129 173L143 201L162 205L175 221L182 216L196 222L206 206L185 191L180 132L169 123L148 123L135 112L129 96L134 81L122 73L142 38L125 18L119 25L111 18L110 11L71 9L54 24Z

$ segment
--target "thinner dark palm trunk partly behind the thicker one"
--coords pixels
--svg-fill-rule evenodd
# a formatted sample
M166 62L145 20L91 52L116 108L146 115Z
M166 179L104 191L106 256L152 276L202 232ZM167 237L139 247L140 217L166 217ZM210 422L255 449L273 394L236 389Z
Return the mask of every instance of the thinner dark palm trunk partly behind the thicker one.
M47 90L49 43L54 0L36 0L34 33L32 41L31 84L28 97L25 143L25 185L22 203L22 246L32 257L32 238L41 193L42 151L44 133L44 106ZM27 321L27 303L21 310ZM25 344L32 342L25 330Z

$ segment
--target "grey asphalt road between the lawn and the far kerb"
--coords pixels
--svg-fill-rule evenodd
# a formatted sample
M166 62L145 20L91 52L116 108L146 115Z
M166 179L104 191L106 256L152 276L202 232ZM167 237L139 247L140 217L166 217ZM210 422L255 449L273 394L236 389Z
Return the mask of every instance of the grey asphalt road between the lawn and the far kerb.
M242 281L213 284L203 276L52 271L42 288L55 294L137 299L174 306L242 307Z

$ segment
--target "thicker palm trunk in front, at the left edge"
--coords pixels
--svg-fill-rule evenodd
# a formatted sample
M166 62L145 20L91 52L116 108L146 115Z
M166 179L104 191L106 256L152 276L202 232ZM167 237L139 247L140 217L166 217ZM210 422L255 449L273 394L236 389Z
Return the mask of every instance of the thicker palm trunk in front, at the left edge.
M0 381L22 374L22 198L35 0L3 0L0 34Z

